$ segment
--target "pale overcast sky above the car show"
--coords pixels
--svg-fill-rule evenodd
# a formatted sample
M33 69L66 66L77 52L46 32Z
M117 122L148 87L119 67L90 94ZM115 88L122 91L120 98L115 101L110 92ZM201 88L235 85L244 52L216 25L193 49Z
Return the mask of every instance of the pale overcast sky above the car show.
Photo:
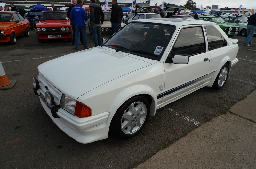
M103 0L100 0L103 1ZM111 0L108 0L108 4L111 3ZM117 0L117 2L129 2L132 0ZM145 2L146 0L136 0L136 3L139 2ZM156 3L159 6L162 3L163 0L157 1L157 0L150 0L150 5L154 6ZM185 5L187 0L165 0L164 2L169 4L175 4L175 5ZM193 0L196 3L197 8L201 8L201 5L203 8L206 6L212 5L219 5L219 8L239 8L240 5L242 5L242 8L246 9L255 9L256 8L256 1L255 0Z

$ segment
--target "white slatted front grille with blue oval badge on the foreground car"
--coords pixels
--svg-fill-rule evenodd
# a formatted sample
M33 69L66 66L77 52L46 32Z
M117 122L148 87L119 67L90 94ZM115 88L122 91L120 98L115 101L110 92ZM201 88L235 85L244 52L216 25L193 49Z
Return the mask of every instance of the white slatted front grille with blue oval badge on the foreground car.
M47 81L41 74L38 76L39 81L39 91L45 97L45 92L49 91L54 96L54 102L56 105L60 105L60 99L62 97L62 93L60 90L55 88L49 81ZM47 86L48 90L45 88Z

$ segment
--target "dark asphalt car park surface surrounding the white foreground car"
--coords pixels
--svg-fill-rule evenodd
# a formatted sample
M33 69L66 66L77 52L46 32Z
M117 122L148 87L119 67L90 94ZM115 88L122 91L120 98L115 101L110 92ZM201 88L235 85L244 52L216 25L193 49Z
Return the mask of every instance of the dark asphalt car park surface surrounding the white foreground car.
M86 33L88 46L94 46L88 30ZM238 39L239 62L222 89L204 87L158 109L136 137L109 136L89 144L80 144L62 132L33 93L31 77L36 76L37 66L76 52L71 43L53 39L39 44L34 31L27 38L17 37L16 45L0 43L4 70L10 80L18 81L14 88L0 90L1 167L133 168L256 89L256 44L244 46L246 37L232 38ZM256 42L255 36L252 41Z

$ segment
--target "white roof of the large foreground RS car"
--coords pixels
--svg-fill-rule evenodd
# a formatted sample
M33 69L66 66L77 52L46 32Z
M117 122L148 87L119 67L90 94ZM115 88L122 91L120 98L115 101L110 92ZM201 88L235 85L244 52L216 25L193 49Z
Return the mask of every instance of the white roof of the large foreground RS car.
M214 22L209 21L202 21L202 20L190 20L190 19L180 19L180 18L157 18L157 19L137 19L131 22L148 22L154 24L168 24L168 25L175 25L177 27L183 25L196 25L196 24L216 24ZM130 22L130 23L131 23Z

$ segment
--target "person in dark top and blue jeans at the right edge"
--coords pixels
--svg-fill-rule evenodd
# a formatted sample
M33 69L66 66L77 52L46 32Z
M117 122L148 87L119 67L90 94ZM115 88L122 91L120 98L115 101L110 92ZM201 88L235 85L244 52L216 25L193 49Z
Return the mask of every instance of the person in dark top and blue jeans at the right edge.
M256 28L256 14L251 15L247 22L247 38L244 42L244 45L250 46L252 44L252 36Z

